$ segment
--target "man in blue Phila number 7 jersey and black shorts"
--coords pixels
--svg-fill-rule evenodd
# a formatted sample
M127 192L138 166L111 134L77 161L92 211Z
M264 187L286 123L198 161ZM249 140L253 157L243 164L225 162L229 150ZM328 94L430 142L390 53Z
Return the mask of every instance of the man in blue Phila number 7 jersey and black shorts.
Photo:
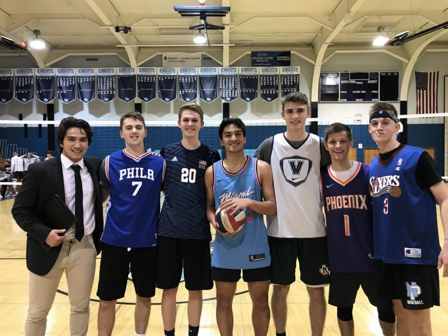
M135 333L145 335L155 293L157 218L165 160L145 150L141 113L120 118L125 148L107 156L100 170L103 200L110 196L101 237L103 253L97 295L98 335L111 335L116 300L124 296L129 271L136 293Z

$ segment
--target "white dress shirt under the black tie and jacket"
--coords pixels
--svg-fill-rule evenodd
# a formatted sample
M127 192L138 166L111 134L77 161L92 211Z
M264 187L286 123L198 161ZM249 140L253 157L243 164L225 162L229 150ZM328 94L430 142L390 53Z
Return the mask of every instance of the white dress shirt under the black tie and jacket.
M72 162L64 154L61 154L62 174L64 176L65 204L75 214L75 172L72 164L81 167L80 175L83 184L83 209L84 209L84 234L91 234L95 229L95 192L92 177L84 165L84 158L79 162ZM75 225L65 232L67 238L75 237Z

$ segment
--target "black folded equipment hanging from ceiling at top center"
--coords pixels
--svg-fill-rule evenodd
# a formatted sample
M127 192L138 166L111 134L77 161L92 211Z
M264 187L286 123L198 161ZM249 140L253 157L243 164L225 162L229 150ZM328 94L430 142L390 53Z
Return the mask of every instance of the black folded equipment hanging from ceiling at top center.
M201 3L201 1L200 1ZM207 22L208 16L225 16L230 11L230 7L223 6L174 6L174 10L177 11L181 16L195 17L199 16L202 24L195 26L190 26L190 30L204 30L205 36L207 38L207 44L210 48L210 39L207 30L224 30L224 26L217 26Z

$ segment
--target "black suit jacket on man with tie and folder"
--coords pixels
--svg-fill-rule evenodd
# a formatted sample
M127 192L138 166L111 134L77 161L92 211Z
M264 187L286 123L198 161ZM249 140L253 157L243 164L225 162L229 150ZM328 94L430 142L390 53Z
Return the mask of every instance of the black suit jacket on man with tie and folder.
M92 177L95 192L95 230L93 240L100 253L100 238L103 233L103 203L100 188L101 160L96 157L84 157L84 164ZM12 206L12 217L26 231L26 266L38 275L47 274L58 258L62 244L50 247L45 238L51 231L36 214L43 203L52 195L58 194L65 202L64 177L62 175L61 156L44 162L36 162L28 167L20 192Z

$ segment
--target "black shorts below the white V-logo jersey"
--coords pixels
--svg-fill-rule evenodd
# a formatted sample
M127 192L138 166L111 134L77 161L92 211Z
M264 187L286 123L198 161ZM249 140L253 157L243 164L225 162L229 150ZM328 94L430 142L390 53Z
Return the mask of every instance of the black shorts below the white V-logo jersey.
M330 282L327 237L269 237L271 253L271 283L290 285L296 281L299 260L300 280L307 286L321 287Z

